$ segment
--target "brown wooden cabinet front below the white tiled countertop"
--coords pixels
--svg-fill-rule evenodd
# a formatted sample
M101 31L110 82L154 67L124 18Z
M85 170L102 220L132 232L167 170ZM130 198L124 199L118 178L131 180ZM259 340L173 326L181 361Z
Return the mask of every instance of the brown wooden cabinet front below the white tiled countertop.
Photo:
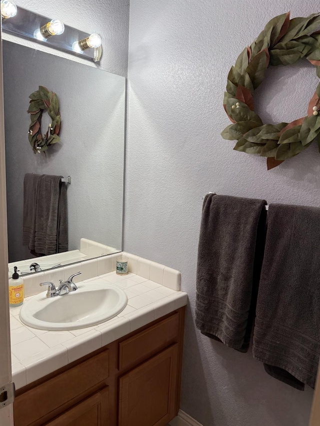
M179 409L184 308L19 389L15 426L165 426Z

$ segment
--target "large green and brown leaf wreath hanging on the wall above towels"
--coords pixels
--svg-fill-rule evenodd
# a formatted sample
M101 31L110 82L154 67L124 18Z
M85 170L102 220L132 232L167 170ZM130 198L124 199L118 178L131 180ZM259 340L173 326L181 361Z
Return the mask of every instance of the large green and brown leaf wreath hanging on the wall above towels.
M290 12L275 16L229 71L223 107L233 124L221 136L237 140L237 151L267 157L268 170L303 151L320 133L320 83L307 115L291 123L263 124L254 112L253 91L268 65L290 65L303 57L316 66L320 78L320 31L312 33L319 24L319 13L293 19ZM320 150L319 140L318 146Z

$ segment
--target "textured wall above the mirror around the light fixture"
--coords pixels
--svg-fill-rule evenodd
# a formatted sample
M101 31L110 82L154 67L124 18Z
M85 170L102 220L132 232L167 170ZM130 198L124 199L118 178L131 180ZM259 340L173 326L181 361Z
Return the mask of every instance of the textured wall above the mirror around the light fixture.
M101 68L126 77L128 56L129 0L18 0L17 5L40 15L57 18L81 31L97 32L102 38L102 57L99 64L37 44L38 50L50 51L61 57ZM18 43L32 42L3 34L3 39Z

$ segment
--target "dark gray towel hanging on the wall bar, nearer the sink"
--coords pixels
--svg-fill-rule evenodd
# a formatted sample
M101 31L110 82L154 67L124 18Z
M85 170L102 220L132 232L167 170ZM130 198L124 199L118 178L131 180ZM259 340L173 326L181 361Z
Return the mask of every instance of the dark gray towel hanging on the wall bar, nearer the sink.
M195 324L246 352L264 247L264 200L208 194L203 202Z

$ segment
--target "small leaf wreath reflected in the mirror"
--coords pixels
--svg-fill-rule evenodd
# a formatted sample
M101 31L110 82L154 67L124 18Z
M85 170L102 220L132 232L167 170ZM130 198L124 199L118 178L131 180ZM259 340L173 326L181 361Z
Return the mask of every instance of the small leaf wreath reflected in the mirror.
M29 98L29 108L27 112L30 114L31 123L29 125L28 137L33 152L44 152L49 145L59 142L59 133L61 127L61 116L59 111L59 100L56 93L49 91L44 86L39 86L38 90L31 93ZM43 111L46 110L51 123L47 132L41 133L41 118Z

